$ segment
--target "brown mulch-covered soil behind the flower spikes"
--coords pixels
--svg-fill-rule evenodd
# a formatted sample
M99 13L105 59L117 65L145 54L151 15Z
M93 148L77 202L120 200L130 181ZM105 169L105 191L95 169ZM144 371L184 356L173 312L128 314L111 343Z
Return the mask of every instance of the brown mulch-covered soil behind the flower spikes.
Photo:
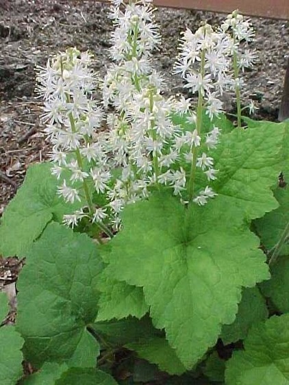
M111 22L108 7L95 0L0 0L0 215L29 164L47 159L49 143L39 125L41 101L34 95L34 67L49 55L76 46L95 53L95 68L103 75L109 64ZM157 12L163 44L154 55L167 80L166 94L183 92L181 80L170 75L182 30L194 30L224 15L189 10ZM289 47L289 22L253 18L259 59L245 73L244 100L255 99L258 119L277 119ZM234 101L227 100L234 111Z

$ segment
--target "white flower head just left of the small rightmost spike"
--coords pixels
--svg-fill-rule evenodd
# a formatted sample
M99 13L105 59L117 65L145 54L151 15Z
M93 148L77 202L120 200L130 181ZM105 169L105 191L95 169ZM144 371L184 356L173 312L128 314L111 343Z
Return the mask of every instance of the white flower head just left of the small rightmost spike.
M229 72L232 40L225 33L214 32L211 25L199 27L194 34L186 29L181 38L175 73L181 73L186 88L205 99L206 113L213 119L222 111L219 99L231 83Z

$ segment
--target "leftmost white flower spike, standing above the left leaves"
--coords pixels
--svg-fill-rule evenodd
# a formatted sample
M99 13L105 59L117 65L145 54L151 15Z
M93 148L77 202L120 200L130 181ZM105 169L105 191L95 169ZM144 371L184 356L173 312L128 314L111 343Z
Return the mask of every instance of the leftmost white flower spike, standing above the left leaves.
M97 77L90 69L91 64L90 53L67 49L49 60L45 69L38 67L36 90L45 99L43 119L53 145L52 173L62 180L58 194L71 203L86 200L93 215L88 181L94 177L94 165L103 158L95 141L103 110L93 99ZM64 220L75 225L86 215L79 210Z

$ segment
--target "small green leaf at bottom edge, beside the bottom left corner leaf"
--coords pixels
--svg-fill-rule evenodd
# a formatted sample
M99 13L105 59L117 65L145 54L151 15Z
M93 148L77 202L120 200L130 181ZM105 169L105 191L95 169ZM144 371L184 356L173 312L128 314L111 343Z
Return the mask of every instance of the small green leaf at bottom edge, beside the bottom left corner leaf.
M66 364L46 362L40 371L29 375L19 385L55 385L55 380L58 380L66 370Z

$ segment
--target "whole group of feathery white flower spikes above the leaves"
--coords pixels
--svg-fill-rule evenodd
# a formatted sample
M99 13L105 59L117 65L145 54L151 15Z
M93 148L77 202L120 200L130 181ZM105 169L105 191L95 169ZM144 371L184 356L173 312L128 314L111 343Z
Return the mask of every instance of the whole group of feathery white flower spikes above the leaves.
M64 223L74 227L88 218L112 236L110 228L118 229L125 205L147 198L153 188L171 188L182 202L200 206L216 196L210 186L195 184L202 178L210 184L218 172L208 153L221 130L214 125L202 133L202 114L205 110L213 120L221 113L219 97L233 82L230 55L240 39L232 39L228 29L238 25L236 36L244 39L247 33L248 41L252 34L242 23L229 21L234 17L217 32L210 25L195 34L184 32L175 72L198 95L193 112L191 99L162 95L162 76L151 63L160 34L149 0L114 0L110 18L116 27L113 63L101 83L103 105L110 110L107 129L99 129L104 116L93 98L97 77L89 53L68 49L40 69L37 79L45 99L45 132L53 143L52 173L61 181L58 193L83 203L81 210L64 216ZM186 123L176 124L175 116ZM196 178L197 173L203 177Z

